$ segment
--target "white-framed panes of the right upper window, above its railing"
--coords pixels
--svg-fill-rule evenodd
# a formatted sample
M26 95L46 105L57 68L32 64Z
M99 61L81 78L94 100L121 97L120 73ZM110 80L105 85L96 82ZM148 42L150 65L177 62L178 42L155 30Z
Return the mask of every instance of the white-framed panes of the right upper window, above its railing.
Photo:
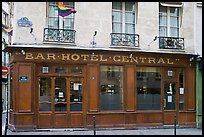
M159 5L159 36L179 37L179 10Z

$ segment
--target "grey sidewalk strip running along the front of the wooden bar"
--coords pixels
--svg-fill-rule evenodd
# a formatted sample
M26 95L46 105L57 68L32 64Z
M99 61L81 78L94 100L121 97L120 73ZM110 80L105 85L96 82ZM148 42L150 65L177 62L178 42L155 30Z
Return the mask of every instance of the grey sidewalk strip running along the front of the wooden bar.
M21 131L11 132L8 130L8 135L94 135L93 130L86 129L53 129L41 131ZM95 135L174 135L174 129L103 129L96 130ZM202 135L202 129L197 128L183 128L177 129L176 135Z

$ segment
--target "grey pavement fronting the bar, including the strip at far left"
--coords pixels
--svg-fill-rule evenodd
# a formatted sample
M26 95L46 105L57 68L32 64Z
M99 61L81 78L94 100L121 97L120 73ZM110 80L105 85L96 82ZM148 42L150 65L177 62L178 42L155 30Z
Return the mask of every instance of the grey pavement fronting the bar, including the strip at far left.
M6 113L2 113L2 135L5 135ZM174 135L174 127L163 128L65 128L65 129L36 129L26 131L7 130L7 135ZM202 135L202 129L177 127L176 135Z

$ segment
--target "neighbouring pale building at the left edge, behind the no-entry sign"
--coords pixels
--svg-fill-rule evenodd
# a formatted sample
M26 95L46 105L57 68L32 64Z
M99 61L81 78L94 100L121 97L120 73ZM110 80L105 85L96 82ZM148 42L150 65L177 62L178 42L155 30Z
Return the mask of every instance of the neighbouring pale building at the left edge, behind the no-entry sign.
M2 67L7 68L9 67L9 56L8 53L3 52L3 49L11 44L12 32L9 31L9 28L12 27L12 4L12 2L2 2ZM2 74L2 112L6 110L7 91L8 75Z

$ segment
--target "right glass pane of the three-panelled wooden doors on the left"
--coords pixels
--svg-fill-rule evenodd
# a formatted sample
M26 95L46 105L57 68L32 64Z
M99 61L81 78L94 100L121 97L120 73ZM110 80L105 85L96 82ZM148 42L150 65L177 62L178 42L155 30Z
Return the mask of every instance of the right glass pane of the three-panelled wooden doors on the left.
M82 111L82 80L70 79L70 111Z

